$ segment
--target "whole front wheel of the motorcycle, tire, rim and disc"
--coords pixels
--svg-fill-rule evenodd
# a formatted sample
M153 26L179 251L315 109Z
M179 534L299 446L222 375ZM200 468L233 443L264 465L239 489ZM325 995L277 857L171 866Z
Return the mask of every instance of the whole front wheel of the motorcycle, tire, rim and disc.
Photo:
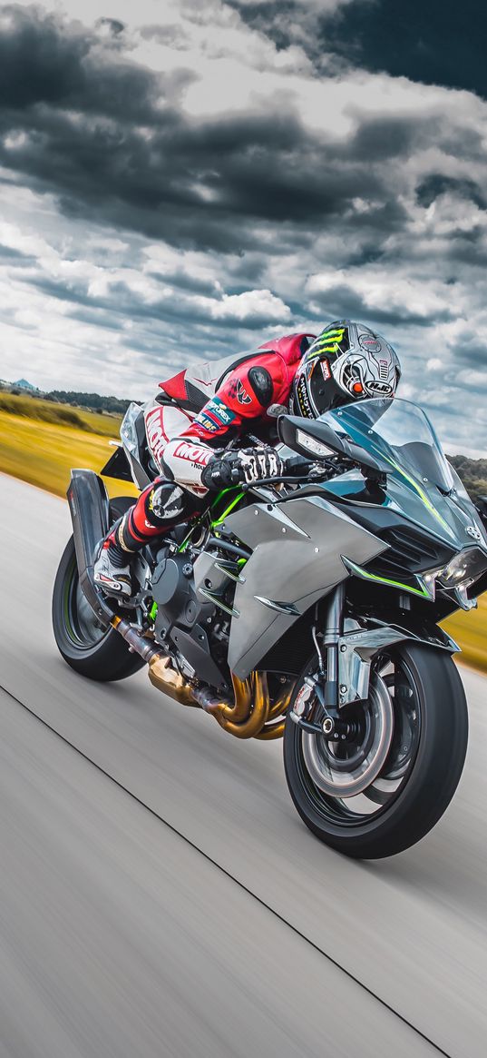
M316 659L295 696L315 668ZM340 712L350 733L335 743L297 726L289 710L291 796L310 829L333 849L360 859L393 856L434 826L458 784L468 740L462 680L450 655L401 644L376 658L368 701Z

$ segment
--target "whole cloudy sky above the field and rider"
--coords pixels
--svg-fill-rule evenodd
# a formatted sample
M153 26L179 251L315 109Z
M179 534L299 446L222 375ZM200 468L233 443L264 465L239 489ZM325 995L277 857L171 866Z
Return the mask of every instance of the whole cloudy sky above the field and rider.
M1 6L0 377L143 400L349 317L487 455L486 31L477 0Z

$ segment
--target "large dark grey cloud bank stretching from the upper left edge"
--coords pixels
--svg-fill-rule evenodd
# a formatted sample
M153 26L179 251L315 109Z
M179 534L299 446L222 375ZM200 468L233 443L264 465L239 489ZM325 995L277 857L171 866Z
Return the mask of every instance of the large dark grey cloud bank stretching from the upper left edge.
M292 105L196 123L179 105L192 70L156 75L124 58L118 32L112 47L78 23L6 11L0 161L67 215L220 251L257 247L262 222L306 238L357 195L380 199L376 227L380 211L400 223L380 163L434 135L430 120L363 118L344 143L306 130Z

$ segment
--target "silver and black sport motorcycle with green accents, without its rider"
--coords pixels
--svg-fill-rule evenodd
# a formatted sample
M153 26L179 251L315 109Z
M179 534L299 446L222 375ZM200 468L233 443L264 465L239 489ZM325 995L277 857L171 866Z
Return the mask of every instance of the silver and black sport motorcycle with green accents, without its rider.
M203 513L134 555L136 590L93 583L97 542L133 503L73 470L73 536L53 596L60 653L157 690L238 738L283 736L299 815L351 857L399 853L439 820L468 736L438 622L487 588L487 534L426 414L371 399L277 419L285 472L209 495ZM131 404L101 474L156 476Z

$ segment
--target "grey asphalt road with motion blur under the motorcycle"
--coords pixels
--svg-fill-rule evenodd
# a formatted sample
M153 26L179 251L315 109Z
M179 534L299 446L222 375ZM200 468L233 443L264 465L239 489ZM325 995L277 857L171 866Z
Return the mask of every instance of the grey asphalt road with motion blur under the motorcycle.
M65 505L0 476L0 1058L486 1053L485 679L466 768L387 861L321 845L281 747L144 672L77 677L50 605Z

